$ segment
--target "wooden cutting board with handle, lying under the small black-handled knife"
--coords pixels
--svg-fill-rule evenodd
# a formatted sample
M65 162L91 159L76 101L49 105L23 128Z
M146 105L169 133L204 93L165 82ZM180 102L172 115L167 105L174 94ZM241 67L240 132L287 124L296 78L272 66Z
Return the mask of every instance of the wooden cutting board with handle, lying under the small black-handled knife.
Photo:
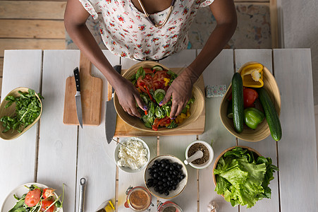
M75 67L74 67L75 68ZM101 122L102 112L102 90L101 78L92 76L92 64L82 52L80 52L80 95L82 99L82 123L83 125L97 126ZM64 124L78 123L75 103L75 79L70 76L66 79L65 101L64 101Z

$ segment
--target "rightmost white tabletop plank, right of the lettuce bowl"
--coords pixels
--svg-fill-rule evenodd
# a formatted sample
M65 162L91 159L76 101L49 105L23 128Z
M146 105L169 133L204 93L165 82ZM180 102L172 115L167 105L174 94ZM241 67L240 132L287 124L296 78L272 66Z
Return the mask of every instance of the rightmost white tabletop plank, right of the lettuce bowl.
M317 211L318 174L310 49L274 49L281 91L281 211Z

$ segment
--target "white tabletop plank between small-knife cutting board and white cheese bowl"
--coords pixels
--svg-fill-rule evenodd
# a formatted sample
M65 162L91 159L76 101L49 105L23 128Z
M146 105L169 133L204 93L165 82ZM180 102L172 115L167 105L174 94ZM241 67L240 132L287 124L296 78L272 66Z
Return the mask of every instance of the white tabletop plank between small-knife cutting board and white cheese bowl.
M119 64L120 57L103 51L112 66ZM85 177L85 211L95 211L104 201L115 202L116 164L114 163L115 142L110 144L105 135L105 102L107 100L107 80L93 65L92 76L102 78L102 119L99 126L83 126L78 131L78 172L76 197L79 196L80 178ZM76 208L78 208L78 201Z

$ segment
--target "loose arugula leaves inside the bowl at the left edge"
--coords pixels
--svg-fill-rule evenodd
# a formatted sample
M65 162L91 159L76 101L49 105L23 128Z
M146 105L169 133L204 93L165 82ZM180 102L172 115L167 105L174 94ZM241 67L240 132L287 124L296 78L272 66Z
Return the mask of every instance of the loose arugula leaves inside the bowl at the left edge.
M41 112L41 102L35 95L35 90L29 89L28 93L23 93L19 90L18 93L20 96L16 98L7 96L5 99L8 101L5 108L16 102L16 114L13 117L1 117L0 121L2 126L4 126L3 132L10 129L13 129L13 131L18 130L18 132L23 131L25 127L35 122ZM38 94L38 96L40 99L44 99L42 95Z

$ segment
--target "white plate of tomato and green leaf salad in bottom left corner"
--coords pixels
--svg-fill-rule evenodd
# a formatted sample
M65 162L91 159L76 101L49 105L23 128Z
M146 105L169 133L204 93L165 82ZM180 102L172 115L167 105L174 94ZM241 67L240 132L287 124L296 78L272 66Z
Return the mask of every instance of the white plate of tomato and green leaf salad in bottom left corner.
M1 212L63 212L63 194L44 184L30 182L13 189L2 204Z

